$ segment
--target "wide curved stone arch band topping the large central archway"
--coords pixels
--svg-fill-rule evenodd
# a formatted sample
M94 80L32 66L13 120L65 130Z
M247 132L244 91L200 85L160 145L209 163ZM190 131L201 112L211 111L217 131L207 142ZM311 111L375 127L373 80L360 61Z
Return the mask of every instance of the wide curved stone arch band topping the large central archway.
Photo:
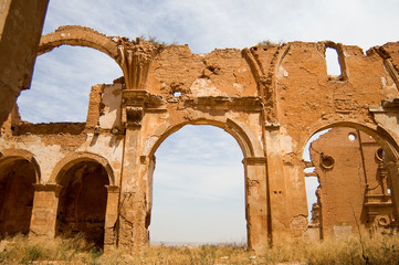
M230 118L227 118L224 121L200 118L175 126L170 126L170 124L164 124L159 126L153 136L147 140L144 156L153 157L155 151L168 136L178 131L186 125L211 125L219 127L230 134L237 140L244 158L263 156L261 144L253 135L251 129L246 125L234 121Z

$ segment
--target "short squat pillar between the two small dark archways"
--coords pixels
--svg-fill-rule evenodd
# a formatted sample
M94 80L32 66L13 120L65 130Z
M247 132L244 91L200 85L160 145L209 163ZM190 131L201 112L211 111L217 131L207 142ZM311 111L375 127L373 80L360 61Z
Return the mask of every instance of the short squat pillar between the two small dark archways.
M29 235L55 236L59 195L62 189L59 184L33 184L34 198L31 227Z

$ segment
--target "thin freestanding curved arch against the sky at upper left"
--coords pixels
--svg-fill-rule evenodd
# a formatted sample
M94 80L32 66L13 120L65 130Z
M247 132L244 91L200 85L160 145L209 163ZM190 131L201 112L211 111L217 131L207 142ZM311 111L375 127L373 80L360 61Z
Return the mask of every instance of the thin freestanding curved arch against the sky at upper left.
M52 51L61 45L87 46L103 52L119 64L118 43L112 38L81 25L60 26L40 40L38 55Z

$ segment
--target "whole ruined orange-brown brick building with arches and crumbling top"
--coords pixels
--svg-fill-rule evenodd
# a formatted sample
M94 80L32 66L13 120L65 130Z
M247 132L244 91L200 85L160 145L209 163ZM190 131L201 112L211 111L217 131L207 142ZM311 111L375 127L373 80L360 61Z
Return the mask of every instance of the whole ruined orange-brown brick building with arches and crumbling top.
M188 124L220 127L241 147L248 244L258 253L272 240L308 236L315 230L318 237L338 237L357 226L398 225L399 43L367 54L333 42L193 54L187 45L161 46L62 26L38 44L46 1L33 17L19 1L6 2L15 3L9 10L20 10L32 23L23 24L27 35L11 41L10 32L18 30L3 21L20 17L1 11L1 234L83 232L105 250L145 246L154 153ZM13 106L29 87L34 55L60 45L96 49L124 76L93 86L86 123L20 120ZM327 74L327 47L338 54L337 76ZM328 128L312 144L312 162L303 161L309 138ZM349 135L355 140L347 140ZM321 183L311 227L308 167L316 168L313 174Z

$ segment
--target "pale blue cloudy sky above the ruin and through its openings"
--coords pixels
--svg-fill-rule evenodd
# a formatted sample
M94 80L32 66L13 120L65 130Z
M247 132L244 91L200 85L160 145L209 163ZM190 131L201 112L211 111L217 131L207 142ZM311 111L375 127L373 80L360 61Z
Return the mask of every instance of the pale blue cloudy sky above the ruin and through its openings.
M332 40L367 50L399 41L398 13L397 0L50 0L43 34L80 24L107 35L189 44L196 53L263 40ZM55 49L36 60L31 89L18 99L22 118L84 121L91 86L119 76L116 63L103 53ZM156 156L153 240L245 239L242 153L230 135L213 127L183 127Z

